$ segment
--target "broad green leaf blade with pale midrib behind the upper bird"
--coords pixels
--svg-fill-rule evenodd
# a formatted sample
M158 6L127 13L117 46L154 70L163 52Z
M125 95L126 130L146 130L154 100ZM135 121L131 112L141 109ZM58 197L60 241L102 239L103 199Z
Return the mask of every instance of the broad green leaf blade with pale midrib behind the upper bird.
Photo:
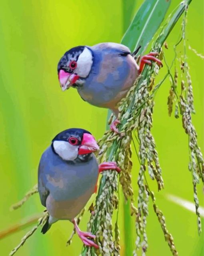
M145 0L134 16L121 43L128 46L132 52L141 45L138 54L144 52L164 20L170 2L170 0Z

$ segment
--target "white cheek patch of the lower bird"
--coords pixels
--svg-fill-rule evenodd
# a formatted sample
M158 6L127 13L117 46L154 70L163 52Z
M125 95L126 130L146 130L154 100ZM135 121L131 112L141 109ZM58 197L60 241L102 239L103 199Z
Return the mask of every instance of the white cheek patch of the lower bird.
M54 151L66 161L73 161L78 156L78 146L71 145L67 141L54 141Z

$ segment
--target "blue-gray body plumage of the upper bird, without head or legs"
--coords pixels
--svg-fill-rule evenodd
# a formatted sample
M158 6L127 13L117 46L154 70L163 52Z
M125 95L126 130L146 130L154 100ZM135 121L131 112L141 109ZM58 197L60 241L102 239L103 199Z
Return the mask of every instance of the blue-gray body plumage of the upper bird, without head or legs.
M130 49L122 44L100 43L89 48L93 65L78 93L88 103L117 113L116 105L132 87L139 67Z

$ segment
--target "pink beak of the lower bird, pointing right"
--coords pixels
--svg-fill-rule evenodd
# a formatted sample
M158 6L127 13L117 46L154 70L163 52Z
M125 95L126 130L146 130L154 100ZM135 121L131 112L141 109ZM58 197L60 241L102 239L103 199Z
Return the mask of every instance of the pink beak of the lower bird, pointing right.
M89 133L84 133L82 144L79 148L78 154L84 155L99 150L98 144L94 139L94 136Z

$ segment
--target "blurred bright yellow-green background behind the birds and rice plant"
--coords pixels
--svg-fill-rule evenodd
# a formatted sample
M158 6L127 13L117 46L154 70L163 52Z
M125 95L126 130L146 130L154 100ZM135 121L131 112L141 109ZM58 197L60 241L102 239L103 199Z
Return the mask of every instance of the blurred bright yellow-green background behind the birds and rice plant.
M0 230L21 219L42 212L38 195L33 196L20 210L10 212L10 205L21 199L37 182L37 167L42 151L60 131L70 127L89 130L99 139L106 127L106 109L100 109L81 100L74 89L62 93L56 67L66 50L77 45L93 45L99 42L120 42L128 22L142 0L127 6L122 0L7 0L0 4L0 169L1 200ZM173 0L170 13L179 3ZM131 15L126 15L126 10ZM131 12L132 10L132 12ZM187 38L192 48L203 54L204 2L193 0L188 12ZM178 39L181 20L169 36L167 61L172 59L172 46ZM194 88L196 115L193 122L198 132L198 143L203 151L203 87L204 63L194 52L187 50L188 63ZM160 70L157 79L166 73ZM168 230L180 256L203 255L203 232L198 236L194 213L170 202L167 194L173 194L193 202L192 177L188 171L188 137L181 119L168 117L167 97L170 83L167 79L160 88L154 109L154 135L163 170L165 189L155 193L157 204L166 217ZM136 156L133 156L136 159ZM134 183L138 173L134 160ZM156 191L154 181L150 187ZM134 187L135 193L136 185ZM198 187L200 203L202 186ZM120 204L121 206L122 204ZM203 205L203 204L202 204ZM171 255L157 218L149 204L148 254ZM86 229L89 213L80 228ZM121 255L125 255L124 230L134 248L134 220L132 234L126 230L120 207ZM202 219L203 224L203 219ZM0 240L1 255L8 255L29 230L26 228ZM73 255L80 254L82 243L74 237L66 247L72 224L58 222L43 236L38 230L16 256ZM125 255L126 256L126 255ZM129 255L127 255L129 256Z

